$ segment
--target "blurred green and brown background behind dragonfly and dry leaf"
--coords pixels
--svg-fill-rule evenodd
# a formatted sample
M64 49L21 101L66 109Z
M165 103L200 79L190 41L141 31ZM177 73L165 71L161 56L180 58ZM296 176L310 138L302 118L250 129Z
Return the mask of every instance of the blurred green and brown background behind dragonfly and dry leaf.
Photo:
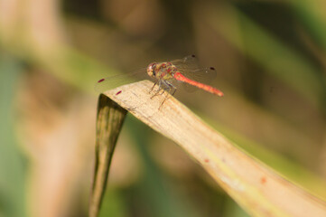
M325 11L324 0L0 0L0 217L87 216L94 84L192 53L225 96L177 98L325 199ZM100 216L247 214L128 116Z

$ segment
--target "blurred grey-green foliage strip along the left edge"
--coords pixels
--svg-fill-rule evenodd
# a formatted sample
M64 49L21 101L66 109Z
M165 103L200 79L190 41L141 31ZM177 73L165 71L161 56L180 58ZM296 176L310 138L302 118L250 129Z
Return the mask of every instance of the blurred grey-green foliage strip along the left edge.
M14 135L14 94L22 66L0 53L0 216L25 216L24 158Z

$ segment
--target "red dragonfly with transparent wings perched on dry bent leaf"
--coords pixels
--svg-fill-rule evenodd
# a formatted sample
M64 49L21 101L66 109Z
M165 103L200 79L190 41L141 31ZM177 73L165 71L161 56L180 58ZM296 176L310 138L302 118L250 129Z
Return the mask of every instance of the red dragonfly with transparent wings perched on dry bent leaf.
M144 73L144 69L140 71ZM163 94L164 90L173 96L180 84L189 91L200 89L219 97L224 95L221 90L204 83L204 81L210 82L210 80L213 80L216 77L217 72L214 67L201 68L195 55L186 56L174 61L152 62L147 66L145 71L149 78L154 80L154 86L151 91L154 90L156 85L158 85L158 89L153 97ZM139 72L136 71L133 75L138 73ZM112 87L110 84L115 83L116 80L124 80L120 77L124 76L112 76L98 80L96 90L106 90L106 87ZM201 80L204 81L201 82ZM161 92L161 90L163 91ZM121 91L118 93L121 93ZM165 98L163 102L166 99L167 98ZM163 102L161 106L163 105Z

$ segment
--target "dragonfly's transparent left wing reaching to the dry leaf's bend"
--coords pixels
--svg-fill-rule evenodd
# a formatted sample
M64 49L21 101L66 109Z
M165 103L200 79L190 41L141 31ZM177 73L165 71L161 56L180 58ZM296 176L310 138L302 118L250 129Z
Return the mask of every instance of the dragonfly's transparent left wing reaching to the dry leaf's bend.
M95 84L94 89L98 92L104 92L106 90L114 89L136 80L151 80L151 78L146 73L146 68L142 68L126 74L118 74L100 79Z

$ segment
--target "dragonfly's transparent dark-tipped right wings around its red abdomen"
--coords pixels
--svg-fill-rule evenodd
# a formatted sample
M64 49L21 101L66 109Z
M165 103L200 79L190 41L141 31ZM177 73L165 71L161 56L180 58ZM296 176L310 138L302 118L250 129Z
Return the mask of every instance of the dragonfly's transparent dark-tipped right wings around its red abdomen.
M186 56L171 62L185 77L199 81L200 83L210 84L217 75L217 71L213 67L200 67L198 58L195 55ZM182 86L187 91L198 90L196 87L187 83L182 83Z

